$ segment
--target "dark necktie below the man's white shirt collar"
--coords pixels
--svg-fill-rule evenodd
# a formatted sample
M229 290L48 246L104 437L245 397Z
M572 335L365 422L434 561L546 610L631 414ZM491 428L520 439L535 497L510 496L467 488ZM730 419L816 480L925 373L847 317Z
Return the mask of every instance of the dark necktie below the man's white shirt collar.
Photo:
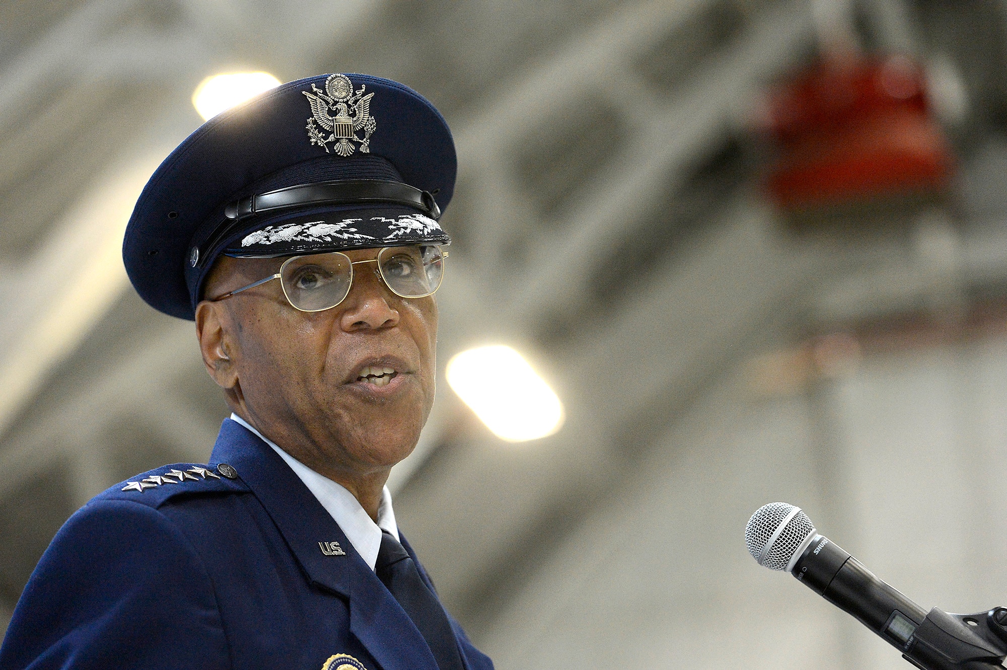
M375 572L420 629L440 670L464 670L444 608L423 582L405 547L387 531L382 531Z

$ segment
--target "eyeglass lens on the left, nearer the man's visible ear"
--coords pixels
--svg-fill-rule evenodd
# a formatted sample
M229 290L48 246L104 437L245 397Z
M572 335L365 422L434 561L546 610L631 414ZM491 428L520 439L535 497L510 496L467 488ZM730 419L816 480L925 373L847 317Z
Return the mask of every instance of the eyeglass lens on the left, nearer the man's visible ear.
M304 312L327 310L349 293L349 257L339 254L298 256L283 264L280 282L287 300Z

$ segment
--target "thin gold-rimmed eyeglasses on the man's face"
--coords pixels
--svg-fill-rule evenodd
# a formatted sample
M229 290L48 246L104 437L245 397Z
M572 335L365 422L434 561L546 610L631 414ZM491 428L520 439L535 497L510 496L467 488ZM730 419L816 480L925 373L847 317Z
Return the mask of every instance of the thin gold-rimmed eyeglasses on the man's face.
M447 252L438 244L386 246L378 252L378 258L368 261L350 261L341 252L295 256L284 261L275 275L207 300L215 303L278 279L291 307L301 312L321 312L345 300L353 284L353 266L365 263L377 264L375 275L395 295L425 298L440 287L446 258Z

